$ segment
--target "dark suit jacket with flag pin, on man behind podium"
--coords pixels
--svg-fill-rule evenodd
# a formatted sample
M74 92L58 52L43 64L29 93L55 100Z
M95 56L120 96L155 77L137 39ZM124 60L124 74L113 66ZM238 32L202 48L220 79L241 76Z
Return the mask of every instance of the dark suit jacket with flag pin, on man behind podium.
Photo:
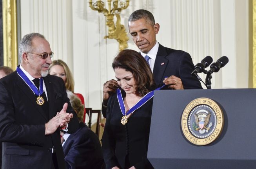
M200 81L191 75L194 64L191 56L182 50L174 50L159 44L153 69L154 81L158 87L163 85L163 79L174 75L182 79L184 89L202 89ZM164 89L168 89L165 86Z

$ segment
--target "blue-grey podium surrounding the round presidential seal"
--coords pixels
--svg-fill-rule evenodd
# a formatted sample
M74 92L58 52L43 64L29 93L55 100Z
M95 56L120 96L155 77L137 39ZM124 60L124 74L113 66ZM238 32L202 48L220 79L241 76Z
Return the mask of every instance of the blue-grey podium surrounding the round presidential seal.
M205 146L189 142L182 113L206 97L223 111L223 131ZM159 90L154 94L147 158L155 169L256 168L256 89Z

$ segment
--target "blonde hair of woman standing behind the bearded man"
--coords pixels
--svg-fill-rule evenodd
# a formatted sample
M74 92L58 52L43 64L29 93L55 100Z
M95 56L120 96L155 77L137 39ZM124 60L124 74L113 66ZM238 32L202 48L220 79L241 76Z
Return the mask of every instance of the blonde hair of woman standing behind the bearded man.
M48 72L51 72L51 68L55 65L60 65L64 68L64 72L66 75L65 86L66 86L67 90L70 90L71 92L74 93L74 79L73 79L72 73L71 73L69 67L67 66L67 64L60 59L54 60L53 63L50 65Z

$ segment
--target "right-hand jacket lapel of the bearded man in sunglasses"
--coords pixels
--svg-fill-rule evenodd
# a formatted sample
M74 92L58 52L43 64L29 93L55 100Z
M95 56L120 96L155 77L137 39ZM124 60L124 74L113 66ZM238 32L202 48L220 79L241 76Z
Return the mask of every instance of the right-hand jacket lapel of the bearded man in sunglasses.
M44 84L47 91L47 99L48 99L48 105L49 105L49 119L52 119L56 115L56 112L54 112L55 110L54 90L53 90L52 82L50 81L50 79L47 76L43 77L43 79L44 79Z

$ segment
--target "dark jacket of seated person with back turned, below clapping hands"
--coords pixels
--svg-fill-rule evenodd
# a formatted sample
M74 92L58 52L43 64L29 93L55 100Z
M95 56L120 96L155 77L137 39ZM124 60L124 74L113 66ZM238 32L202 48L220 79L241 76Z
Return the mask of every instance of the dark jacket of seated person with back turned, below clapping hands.
M100 140L84 122L63 145L67 169L105 169Z

